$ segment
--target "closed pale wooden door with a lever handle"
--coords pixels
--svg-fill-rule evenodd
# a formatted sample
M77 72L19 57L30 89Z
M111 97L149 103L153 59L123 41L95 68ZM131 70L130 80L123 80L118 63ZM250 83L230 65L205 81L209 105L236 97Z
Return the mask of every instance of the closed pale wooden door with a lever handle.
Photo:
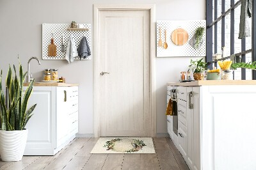
M150 136L150 12L99 13L100 136Z

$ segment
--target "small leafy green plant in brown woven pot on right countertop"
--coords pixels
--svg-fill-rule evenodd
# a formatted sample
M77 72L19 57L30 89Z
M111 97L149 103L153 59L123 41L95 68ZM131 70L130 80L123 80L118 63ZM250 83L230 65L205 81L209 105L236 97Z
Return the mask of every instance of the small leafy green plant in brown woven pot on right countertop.
M189 65L188 72L191 68L193 69L193 77L195 81L200 81L204 79L204 70L206 68L207 63L202 61L203 59L204 58L195 61L193 61L192 59L190 60L191 65Z

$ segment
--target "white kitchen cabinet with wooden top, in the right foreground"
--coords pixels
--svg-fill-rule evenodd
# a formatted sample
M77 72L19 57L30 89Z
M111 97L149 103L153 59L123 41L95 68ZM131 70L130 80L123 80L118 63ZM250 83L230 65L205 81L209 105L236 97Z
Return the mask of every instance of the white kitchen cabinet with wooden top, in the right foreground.
M256 81L195 81L168 86L179 89L182 84L187 91L187 124L179 121L178 131L184 137L179 135L177 148L189 169L256 169Z

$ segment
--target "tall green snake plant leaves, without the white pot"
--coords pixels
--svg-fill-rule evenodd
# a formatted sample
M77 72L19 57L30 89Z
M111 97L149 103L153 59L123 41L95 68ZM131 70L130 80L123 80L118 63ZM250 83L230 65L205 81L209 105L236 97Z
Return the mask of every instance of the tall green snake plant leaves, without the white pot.
M8 97L4 95L2 89L2 71L0 77L0 129L7 131L23 130L36 107L35 104L27 110L28 100L33 91L34 80L30 82L24 95L22 95L26 73L23 73L22 65L19 65L19 77L17 77L15 65L13 65L13 70L15 76L12 75L12 68L9 65L6 76Z

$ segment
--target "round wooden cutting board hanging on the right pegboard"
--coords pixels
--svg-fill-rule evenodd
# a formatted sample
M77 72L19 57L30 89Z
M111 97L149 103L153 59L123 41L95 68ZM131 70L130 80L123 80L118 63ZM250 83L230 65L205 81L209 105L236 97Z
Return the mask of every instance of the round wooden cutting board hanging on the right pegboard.
M185 29L177 28L172 32L172 42L175 45L184 45L188 42L188 32Z

